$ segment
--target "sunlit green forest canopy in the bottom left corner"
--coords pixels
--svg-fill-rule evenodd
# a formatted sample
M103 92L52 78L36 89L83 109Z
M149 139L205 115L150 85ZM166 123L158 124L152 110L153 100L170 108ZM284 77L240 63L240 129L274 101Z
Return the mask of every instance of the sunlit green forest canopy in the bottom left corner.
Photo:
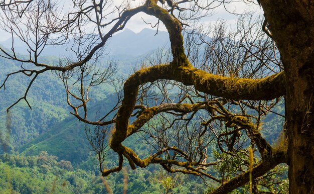
M71 162L42 151L38 156L1 155L1 193L103 193L99 177L73 170Z

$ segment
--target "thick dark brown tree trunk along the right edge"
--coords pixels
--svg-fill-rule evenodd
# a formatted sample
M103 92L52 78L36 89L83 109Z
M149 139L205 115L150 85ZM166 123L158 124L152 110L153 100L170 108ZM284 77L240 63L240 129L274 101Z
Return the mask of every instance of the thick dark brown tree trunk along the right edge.
M314 1L260 1L286 77L289 192L314 193Z

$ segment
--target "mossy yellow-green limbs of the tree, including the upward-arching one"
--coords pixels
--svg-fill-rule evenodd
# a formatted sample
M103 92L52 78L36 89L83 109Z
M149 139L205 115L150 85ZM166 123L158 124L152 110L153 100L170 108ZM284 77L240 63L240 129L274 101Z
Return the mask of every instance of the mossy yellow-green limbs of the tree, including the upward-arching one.
M193 105L172 103L162 104L160 106L143 109L140 115L138 115L137 119L132 124L129 124L129 118L131 117L131 114L135 108L139 86L147 82L153 82L160 79L175 80L185 85L193 85L197 90L204 93L233 100L272 100L278 98L279 96L285 95L286 92L284 87L284 72L280 72L265 77L263 79L245 79L223 77L193 68L184 52L184 42L181 33L182 26L180 21L173 17L171 14L169 14L167 10L156 5L156 1L147 0L144 7L145 9L142 9L143 12L148 15L155 16L165 24L169 33L174 60L167 65L156 65L149 68L141 69L132 74L125 81L123 87L124 98L122 100L121 107L117 113L117 118L115 120L116 126L115 130L112 133L110 147L115 152L119 153L119 157L120 155L126 157L133 169L135 169L135 165L140 167L146 167L147 165L152 163L159 163L167 168L166 164L173 164L179 166L180 168L168 168L167 170L174 172L180 171L183 173L195 175L204 175L211 179L219 181L212 175L200 170L200 167L204 167L206 164L201 164L200 162L193 161L182 162L174 159L162 159L160 157L160 154L162 154L164 150L161 150L160 153L158 152L153 156L149 156L145 159L140 159L132 149L122 145L122 142L128 136L137 132L141 127L143 127L145 123L147 123L158 113L170 110L181 113L189 113L209 107L212 110L216 110L217 113L222 114L222 116L220 117L225 119L226 122L230 122L233 125L241 126L247 129L249 137L256 142L263 159L263 163L257 165L255 169L260 168L261 170L266 170L271 169L273 165L277 165L277 161L274 161L271 155L272 148L262 138L261 134L257 131L257 127L254 126L245 117L232 116L226 119L226 115L228 115L228 113L226 110L223 109L223 107L211 107L206 103L198 103ZM175 148L171 149L175 150ZM183 154L184 156L184 153L181 154ZM123 158L123 156L121 157ZM121 168L122 162L119 162L118 167L104 171L103 175L109 174L114 171L119 171ZM246 175L247 174L244 173L243 176L246 178ZM233 182L236 182L237 184L239 182L241 184L244 183L241 178L234 179Z

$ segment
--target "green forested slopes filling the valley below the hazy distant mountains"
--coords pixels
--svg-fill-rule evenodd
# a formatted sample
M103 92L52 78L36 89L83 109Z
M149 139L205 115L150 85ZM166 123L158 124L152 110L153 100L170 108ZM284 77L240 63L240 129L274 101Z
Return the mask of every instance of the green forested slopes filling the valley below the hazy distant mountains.
M136 56L133 57L137 60ZM43 58L43 60L57 59L58 57ZM0 60L1 69L5 69L0 77L20 66L19 63L12 63L7 59ZM123 72L120 74L123 76ZM42 88L43 81L50 84ZM56 77L52 73L41 77L34 84L31 91L33 94L30 95L32 109L29 109L26 103L22 103L7 114L6 108L18 98L19 89L23 89L22 82L14 79L8 84L10 95L0 93L2 99L0 192L106 193L103 183L106 181L113 193L122 193L124 186L122 172L108 176L105 180L100 178L95 153L91 151L85 137L86 125L69 115L63 85L56 82ZM96 91L93 93L94 101L91 103L93 112L106 112L114 106L115 102L112 99L115 96L112 88L102 85L99 90L101 92ZM128 144L142 152L141 155L148 153L145 144L135 142L137 140L134 139ZM108 157L106 163L109 167L114 166L115 158ZM166 183L160 181L160 177L164 177L165 180L179 178L178 182L174 181L175 190L180 189L184 193L207 190L197 177L172 176L162 174L160 170L154 166L136 171L129 169L127 193L160 193L161 190L166 192L163 185ZM183 185L184 182L190 183Z

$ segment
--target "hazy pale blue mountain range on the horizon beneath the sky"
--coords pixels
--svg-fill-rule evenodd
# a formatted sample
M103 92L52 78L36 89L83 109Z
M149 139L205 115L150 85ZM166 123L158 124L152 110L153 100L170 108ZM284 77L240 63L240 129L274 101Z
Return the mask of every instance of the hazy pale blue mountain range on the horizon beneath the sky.
M69 42L71 43L71 40ZM12 38L1 41L0 45L11 50ZM105 52L111 57L136 57L160 48L170 48L168 32L158 31L158 34L156 34L156 30L145 28L139 33L134 33L129 29L125 29L109 39ZM14 39L14 49L17 53L27 54L26 44L18 38ZM41 56L69 56L70 54L74 53L69 51L67 45L47 45Z

